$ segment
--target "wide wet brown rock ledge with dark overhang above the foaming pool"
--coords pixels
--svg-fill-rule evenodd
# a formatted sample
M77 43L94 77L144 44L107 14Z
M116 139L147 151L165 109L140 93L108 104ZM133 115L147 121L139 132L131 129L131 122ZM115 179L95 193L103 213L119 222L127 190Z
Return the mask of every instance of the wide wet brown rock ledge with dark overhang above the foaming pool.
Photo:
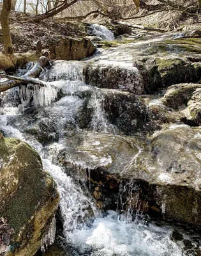
M55 157L73 179L87 178L102 209L148 212L201 225L200 129L173 125L151 141L87 132Z

